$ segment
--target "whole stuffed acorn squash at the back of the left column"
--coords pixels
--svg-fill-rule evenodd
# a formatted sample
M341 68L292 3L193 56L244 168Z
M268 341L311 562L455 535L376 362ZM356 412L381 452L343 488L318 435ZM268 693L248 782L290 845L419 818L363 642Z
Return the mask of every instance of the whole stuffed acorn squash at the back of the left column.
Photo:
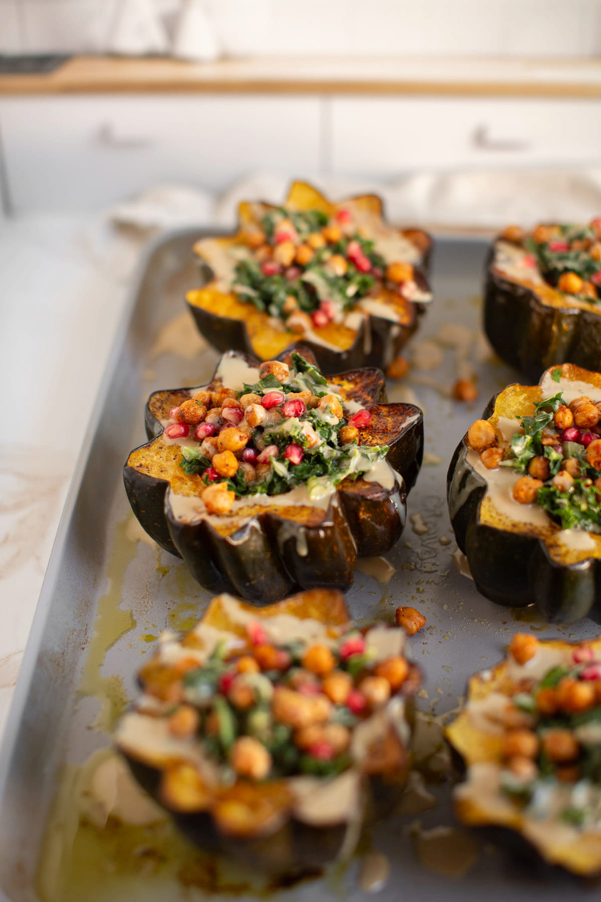
M303 182L239 223L195 245L207 283L187 303L218 351L271 360L300 340L323 373L392 363L432 298L429 235L385 226L375 195L333 204Z

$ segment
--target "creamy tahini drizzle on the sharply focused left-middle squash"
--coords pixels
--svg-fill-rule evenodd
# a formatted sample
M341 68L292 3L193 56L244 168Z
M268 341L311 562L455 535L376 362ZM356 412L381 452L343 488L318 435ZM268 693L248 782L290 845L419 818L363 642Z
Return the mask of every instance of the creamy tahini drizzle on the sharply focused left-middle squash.
M220 364L215 373L217 378L221 378L223 385L227 388L232 388L234 391L242 391L243 386L252 385L254 382L259 382L260 380L260 372L256 367L249 366L244 360L240 357L222 357ZM291 377L292 378L292 377ZM196 388L191 389L191 393L194 394L196 391L201 391L205 386L198 386ZM286 391L287 383L285 382L282 385L282 391ZM336 394L342 403L342 406L345 410L345 413L348 416L352 416L358 410L362 410L363 405L360 404L359 401L353 399L343 399L341 398L338 392L338 386L333 385L332 383L328 383L328 389L332 392L332 394ZM324 416L324 419L327 417ZM414 422L417 422L419 419L419 414L414 414L414 416L409 417L405 420L405 425L407 427L411 426ZM160 424L163 428L168 426L171 422L169 419L161 419ZM165 445L178 445L178 446L187 446L187 447L196 447L198 446L198 442L194 437L187 438L168 438L164 433L160 437L160 440ZM400 474L396 473L396 470L388 464L387 460L378 460L375 461L373 465L369 468L369 470L365 471L361 474L361 478L364 479L368 483L379 483L382 488L387 492L392 492L396 486L400 486L403 484L403 477ZM309 492L307 491L306 485L297 485L296 488L291 489L290 492L283 492L279 495L266 495L266 494L256 494L256 495L245 495L243 498L237 498L235 502L233 502L232 511L228 515L227 521L232 522L234 520L236 522L236 528L240 528L245 523L249 522L252 519L252 516L243 516L239 514L237 517L236 514L238 511L242 511L244 508L249 508L250 506L261 506L261 507L269 507L269 506L278 506L278 507L288 507L288 506L303 506L303 507L314 507L321 508L323 511L327 511L331 505L338 505L338 495L335 488L332 490L324 491L321 495L315 495L313 497L309 497ZM166 504L170 509L172 515L176 518L176 520L181 520L185 523L192 523L196 520L207 520L208 522L216 524L223 524L225 518L220 517L218 515L211 515L206 511L205 502L203 502L202 498L196 495L179 495L176 492L173 492L172 489L168 490L166 496ZM296 535L296 550L301 557L307 554L306 547L306 537L304 529L297 529L297 524L295 524L295 535ZM283 542L288 538L284 533L280 537L280 542Z

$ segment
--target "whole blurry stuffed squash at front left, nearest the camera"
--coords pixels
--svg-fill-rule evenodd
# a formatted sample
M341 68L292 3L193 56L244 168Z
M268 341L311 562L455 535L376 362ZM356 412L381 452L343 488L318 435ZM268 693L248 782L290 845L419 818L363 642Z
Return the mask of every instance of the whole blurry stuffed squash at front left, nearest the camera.
M114 741L205 851L276 873L348 856L411 766L419 671L405 630L356 630L341 593L260 610L230 595L164 633Z

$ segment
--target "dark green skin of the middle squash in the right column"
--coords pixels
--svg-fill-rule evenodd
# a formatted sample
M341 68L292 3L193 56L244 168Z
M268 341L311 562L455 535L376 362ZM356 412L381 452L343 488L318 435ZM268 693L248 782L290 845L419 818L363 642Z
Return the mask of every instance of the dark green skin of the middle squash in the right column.
M492 415L495 400L496 396L490 400L482 419ZM457 544L468 558L478 592L505 607L536 604L551 623L573 623L583 617L601 623L601 561L591 557L561 565L551 559L541 539L480 523L487 486L469 465L468 450L463 437L447 474L447 502Z

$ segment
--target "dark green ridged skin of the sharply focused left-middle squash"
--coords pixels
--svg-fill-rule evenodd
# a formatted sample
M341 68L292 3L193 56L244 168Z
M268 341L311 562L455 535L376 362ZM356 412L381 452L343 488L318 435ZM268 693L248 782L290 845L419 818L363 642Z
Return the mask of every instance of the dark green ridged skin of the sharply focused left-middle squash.
M301 350L310 356L306 348ZM236 356L256 364L246 355ZM287 355L283 356L286 359ZM125 491L141 526L162 548L183 557L206 589L214 594L235 594L257 604L273 603L299 589L324 585L346 591L352 584L357 557L386 554L400 537L405 527L406 492L414 485L422 464L422 411L411 404L378 405L385 391L384 375L378 370L341 373L332 382L347 377L357 385L356 399L373 410L376 419L382 415L384 423L378 425L375 434L378 441L386 435L382 430L387 418L396 422L415 418L391 443L387 456L405 485L396 484L388 491L378 483L346 480L337 492L339 503L331 503L318 526L293 524L265 511L224 537L209 522L186 524L176 520L167 502L168 482L141 474L125 463ZM150 410L155 395L167 394L177 403L188 396L188 391L177 389L150 396L145 421L151 440L162 432L159 419Z

